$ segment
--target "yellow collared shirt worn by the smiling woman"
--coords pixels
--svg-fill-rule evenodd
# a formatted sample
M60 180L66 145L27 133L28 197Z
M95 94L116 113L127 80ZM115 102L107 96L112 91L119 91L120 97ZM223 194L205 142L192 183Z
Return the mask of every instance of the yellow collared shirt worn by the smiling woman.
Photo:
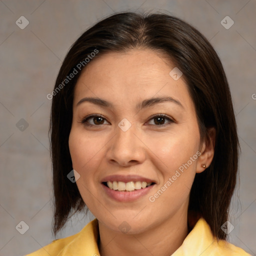
M98 221L93 219L71 236L56 239L26 256L99 256ZM200 218L180 247L171 256L251 256L243 249L225 241L217 242L204 218Z

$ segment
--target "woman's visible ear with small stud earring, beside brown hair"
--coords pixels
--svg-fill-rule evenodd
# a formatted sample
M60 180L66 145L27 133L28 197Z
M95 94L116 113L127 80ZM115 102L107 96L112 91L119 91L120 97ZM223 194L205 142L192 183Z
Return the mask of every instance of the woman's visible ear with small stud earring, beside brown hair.
M205 168L209 167L215 148L215 139L216 139L216 129L215 127L207 128L208 137L204 139L201 144L201 154L197 161L196 173L200 173L205 170ZM205 168L202 165L205 164Z

